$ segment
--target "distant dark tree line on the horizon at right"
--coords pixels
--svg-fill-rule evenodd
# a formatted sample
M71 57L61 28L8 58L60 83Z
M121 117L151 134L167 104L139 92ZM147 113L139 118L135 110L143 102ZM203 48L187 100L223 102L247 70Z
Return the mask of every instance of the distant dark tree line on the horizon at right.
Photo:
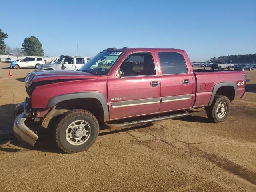
M256 54L247 54L247 55L228 55L228 56L220 56L218 58L213 57L210 59L211 63L217 61L226 61L232 63L252 63L253 61L256 62Z

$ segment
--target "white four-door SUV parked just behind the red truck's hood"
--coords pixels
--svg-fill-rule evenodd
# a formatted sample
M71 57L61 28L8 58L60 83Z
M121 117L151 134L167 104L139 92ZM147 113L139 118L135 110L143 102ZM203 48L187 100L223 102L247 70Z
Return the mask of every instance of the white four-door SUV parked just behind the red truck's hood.
M38 70L77 70L90 59L91 57L64 57L60 62L42 64Z

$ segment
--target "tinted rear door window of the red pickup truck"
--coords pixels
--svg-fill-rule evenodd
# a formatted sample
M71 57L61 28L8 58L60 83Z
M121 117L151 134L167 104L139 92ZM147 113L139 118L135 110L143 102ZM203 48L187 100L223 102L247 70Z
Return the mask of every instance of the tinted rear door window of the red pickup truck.
M158 56L163 75L182 74L188 72L182 54L176 52L159 52Z

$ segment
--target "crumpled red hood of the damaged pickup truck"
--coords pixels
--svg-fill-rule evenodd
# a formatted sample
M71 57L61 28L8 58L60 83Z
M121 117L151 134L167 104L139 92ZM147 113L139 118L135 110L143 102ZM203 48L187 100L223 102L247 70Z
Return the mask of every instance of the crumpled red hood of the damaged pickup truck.
M82 79L98 79L98 76L82 71L71 70L46 70L34 71L27 74L25 79L25 86L29 87L32 82L47 82L51 84L54 82L69 81L69 80L82 80Z

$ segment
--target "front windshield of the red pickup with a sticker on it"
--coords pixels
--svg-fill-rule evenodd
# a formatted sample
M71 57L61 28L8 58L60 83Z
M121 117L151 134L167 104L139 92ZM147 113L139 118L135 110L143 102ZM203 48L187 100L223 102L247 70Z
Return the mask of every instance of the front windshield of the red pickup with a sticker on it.
M106 75L121 54L122 52L117 51L101 52L84 64L79 71L91 73L93 75Z

